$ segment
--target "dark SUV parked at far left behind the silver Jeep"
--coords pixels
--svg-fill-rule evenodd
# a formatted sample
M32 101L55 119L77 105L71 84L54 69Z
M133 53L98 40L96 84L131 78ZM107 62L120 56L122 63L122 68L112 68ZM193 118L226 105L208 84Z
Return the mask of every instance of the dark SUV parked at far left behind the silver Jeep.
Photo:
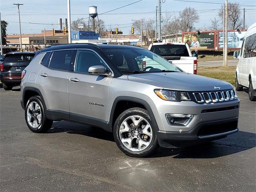
M0 64L0 79L5 90L20 85L22 70L28 66L35 52L10 52Z

